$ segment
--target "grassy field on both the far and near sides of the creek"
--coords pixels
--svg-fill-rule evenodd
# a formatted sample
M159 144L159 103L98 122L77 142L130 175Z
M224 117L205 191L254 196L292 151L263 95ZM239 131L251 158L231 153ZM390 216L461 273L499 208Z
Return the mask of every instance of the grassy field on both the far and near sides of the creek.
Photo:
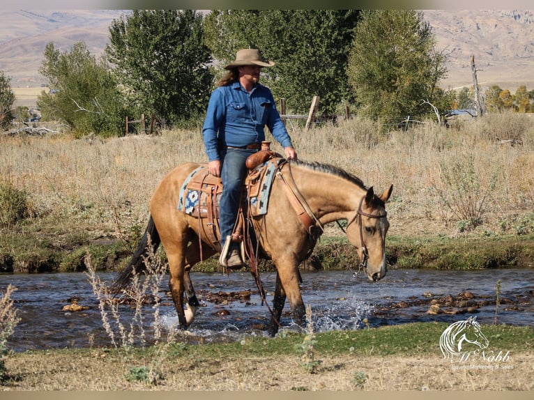
M454 269L459 261L466 263L465 268L488 268L492 264L478 257L485 252L494 252L497 259L507 257L503 266L533 266L531 118L488 115L455 129L426 123L388 133L374 121L362 119L310 131L291 123L288 128L301 159L342 167L377 192L393 183L386 206L391 225L386 250L404 249L393 268L429 268L422 257L429 247L439 249L449 261L454 259L433 268ZM158 136L73 139L61 133L0 137L0 142L0 183L24 193L27 211L20 220L3 222L0 259L11 259L20 272L80 270L86 251L109 252L109 246L116 253L96 258L97 267L119 267L137 245L159 180L177 164L206 161L199 128L166 130ZM343 234L328 226L324 236L328 243ZM11 354L5 358L8 376L3 388L533 389L531 328L483 327L491 344L512 351L512 369L452 369L438 348L444 328L409 324L251 338L227 345L183 346L169 341L137 349ZM149 372L153 379L147 381Z

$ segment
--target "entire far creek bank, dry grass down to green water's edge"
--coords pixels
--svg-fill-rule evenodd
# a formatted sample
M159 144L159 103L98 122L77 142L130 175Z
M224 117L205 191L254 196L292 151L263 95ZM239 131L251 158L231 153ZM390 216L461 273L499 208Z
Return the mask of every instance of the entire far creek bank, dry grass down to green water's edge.
M342 167L378 191L393 183L387 251L395 268L533 266L532 118L494 114L459 130L429 123L388 134L360 119L288 128L300 158ZM177 164L206 161L200 130L0 142L1 271L83 270L87 252L100 270L120 268L160 179ZM328 227L316 266L356 261L342 236Z

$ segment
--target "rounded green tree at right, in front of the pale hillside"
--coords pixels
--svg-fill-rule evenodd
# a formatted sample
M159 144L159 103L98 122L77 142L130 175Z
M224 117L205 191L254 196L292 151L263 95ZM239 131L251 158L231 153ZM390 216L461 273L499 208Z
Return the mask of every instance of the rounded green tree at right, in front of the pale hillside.
M428 114L421 100L437 103L445 56L423 14L364 10L349 56L349 82L364 116L386 122Z

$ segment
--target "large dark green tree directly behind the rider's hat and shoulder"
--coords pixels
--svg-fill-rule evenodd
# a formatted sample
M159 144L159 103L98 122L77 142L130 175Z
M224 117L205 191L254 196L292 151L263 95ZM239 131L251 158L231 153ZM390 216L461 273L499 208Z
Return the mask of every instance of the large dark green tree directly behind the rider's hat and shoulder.
M349 100L346 66L358 10L212 10L206 43L220 66L238 49L257 48L275 61L261 81L289 107L307 111L314 95L323 112Z

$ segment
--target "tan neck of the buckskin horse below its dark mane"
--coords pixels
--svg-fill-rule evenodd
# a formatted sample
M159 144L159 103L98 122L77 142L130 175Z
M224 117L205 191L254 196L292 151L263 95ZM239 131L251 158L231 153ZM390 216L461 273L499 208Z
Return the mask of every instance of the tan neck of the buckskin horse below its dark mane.
M321 224L352 216L367 192L335 174L293 166L291 171L298 191Z

